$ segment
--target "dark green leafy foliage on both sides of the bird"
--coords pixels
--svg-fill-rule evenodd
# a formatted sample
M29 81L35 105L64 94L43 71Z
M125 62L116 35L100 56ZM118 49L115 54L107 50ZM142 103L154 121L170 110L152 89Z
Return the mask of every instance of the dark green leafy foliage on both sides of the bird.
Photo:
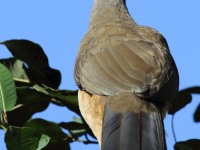
M0 59L0 127L6 131L7 149L70 150L70 143L74 141L97 143L88 139L88 135L94 135L81 117L77 91L58 89L60 71L49 66L43 49L28 40L9 40L0 44L13 55ZM169 114L175 115L188 105L192 94L200 94L200 87L181 90L177 99L170 103ZM68 108L79 118L60 123L31 118L35 113L45 111L50 103ZM194 121L200 122L200 104L194 113ZM177 142L174 148L200 149L200 140Z

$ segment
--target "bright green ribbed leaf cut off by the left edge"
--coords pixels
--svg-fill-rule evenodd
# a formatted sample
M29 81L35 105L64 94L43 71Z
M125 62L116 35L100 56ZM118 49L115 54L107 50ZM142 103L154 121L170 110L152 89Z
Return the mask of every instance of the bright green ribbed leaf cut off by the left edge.
M16 103L15 84L10 71L0 64L0 111L10 111Z

